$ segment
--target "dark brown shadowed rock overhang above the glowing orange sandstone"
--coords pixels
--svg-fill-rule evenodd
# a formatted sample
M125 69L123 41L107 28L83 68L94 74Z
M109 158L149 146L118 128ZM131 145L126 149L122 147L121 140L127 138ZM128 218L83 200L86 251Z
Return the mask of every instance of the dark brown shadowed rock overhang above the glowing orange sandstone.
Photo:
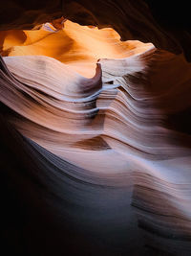
M0 30L36 29L61 16L81 25L112 27L123 40L152 42L157 48L190 61L191 43L187 1L150 0L3 0Z

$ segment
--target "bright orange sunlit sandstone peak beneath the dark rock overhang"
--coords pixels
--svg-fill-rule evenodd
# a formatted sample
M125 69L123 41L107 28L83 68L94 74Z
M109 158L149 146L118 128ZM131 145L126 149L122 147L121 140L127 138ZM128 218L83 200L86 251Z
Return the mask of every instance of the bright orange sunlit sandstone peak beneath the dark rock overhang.
M129 58L154 49L152 43L121 41L112 28L80 26L60 18L40 30L7 31L2 43L3 56L48 56L70 65L74 71L91 78L100 58Z

